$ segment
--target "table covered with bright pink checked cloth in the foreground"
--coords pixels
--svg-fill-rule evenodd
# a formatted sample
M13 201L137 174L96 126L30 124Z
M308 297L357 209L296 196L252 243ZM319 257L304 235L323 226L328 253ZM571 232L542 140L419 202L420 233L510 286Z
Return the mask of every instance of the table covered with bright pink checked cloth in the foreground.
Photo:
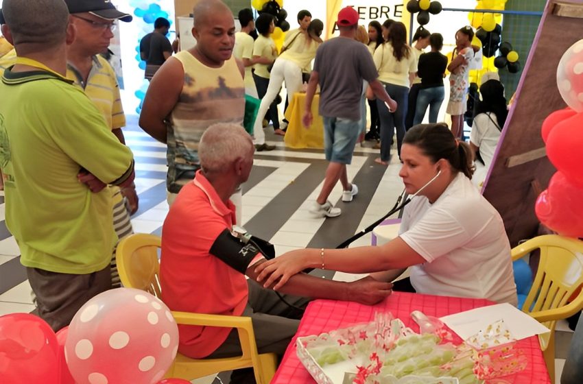
M314 300L308 305L304 317L300 322L298 333L296 333L296 336L287 347L271 383L315 383L296 355L297 337L319 335L322 332L332 331L337 328L345 328L353 324L368 322L373 320L374 313L379 311L390 311L395 317L403 320L406 326L418 332L419 327L409 316L414 310L422 311L427 315L441 317L491 304L495 303L485 299L451 298L447 296L431 296L404 292L393 292L386 300L372 307L355 302ZM458 341L460 340L459 337L457 339ZM543 359L543 352L540 350L538 344L538 337L533 336L518 341L517 346L523 350L529 361L527 368L517 374L505 377L505 381L496 381L496 383L551 383L547 366ZM492 384L494 382L490 381Z

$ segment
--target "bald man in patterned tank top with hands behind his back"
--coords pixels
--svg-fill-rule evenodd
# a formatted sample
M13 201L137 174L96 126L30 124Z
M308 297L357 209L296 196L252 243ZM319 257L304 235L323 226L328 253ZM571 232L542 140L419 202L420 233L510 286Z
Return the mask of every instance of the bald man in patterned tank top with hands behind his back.
M140 126L167 143L167 190L176 194L200 169L200 136L214 123L243 124L243 63L233 56L235 21L219 0L199 1L193 9L195 47L169 58L147 90ZM231 198L241 213L241 194Z

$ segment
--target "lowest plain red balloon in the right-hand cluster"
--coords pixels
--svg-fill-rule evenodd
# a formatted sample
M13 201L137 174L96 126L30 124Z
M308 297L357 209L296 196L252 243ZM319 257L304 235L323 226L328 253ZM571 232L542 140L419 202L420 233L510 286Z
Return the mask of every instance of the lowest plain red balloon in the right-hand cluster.
M549 188L538 195L534 211L545 226L560 235L583 237L583 188L558 171Z

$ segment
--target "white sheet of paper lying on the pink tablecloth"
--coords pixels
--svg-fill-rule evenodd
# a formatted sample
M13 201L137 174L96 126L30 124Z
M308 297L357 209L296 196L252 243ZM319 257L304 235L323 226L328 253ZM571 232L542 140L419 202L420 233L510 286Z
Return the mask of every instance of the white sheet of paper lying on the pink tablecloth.
M508 303L471 309L440 317L440 320L464 340L498 320L504 320L516 340L550 332L549 328Z

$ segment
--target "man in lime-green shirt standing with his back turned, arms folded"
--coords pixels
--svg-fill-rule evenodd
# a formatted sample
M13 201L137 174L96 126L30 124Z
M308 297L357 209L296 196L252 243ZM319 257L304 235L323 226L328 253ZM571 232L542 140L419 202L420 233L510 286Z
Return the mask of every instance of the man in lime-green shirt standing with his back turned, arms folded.
M6 225L40 317L67 326L91 297L111 287L116 242L106 184L134 179L132 152L64 77L75 37L62 0L4 0L3 35L18 58L0 82L0 167Z

